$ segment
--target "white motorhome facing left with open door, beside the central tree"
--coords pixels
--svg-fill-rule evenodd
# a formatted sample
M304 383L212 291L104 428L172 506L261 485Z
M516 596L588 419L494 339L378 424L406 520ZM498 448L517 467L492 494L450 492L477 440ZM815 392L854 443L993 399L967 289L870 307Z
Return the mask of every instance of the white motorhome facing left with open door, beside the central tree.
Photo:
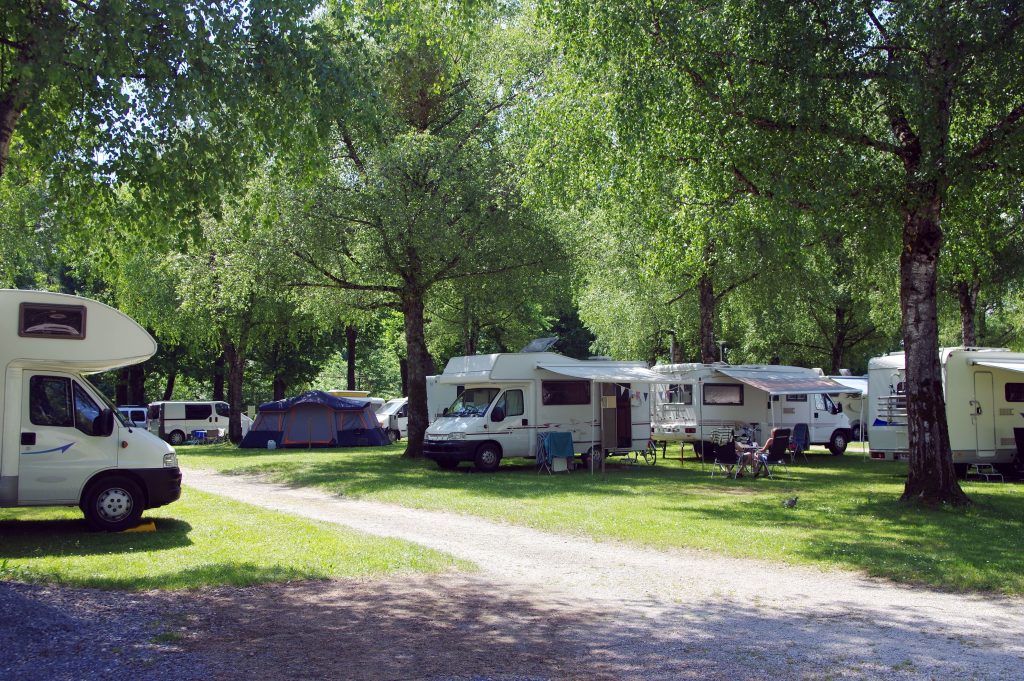
M571 432L585 458L643 450L657 378L639 361L554 352L453 357L438 382L464 389L427 428L424 454L441 468L494 471L503 458L535 458L538 433L551 430Z

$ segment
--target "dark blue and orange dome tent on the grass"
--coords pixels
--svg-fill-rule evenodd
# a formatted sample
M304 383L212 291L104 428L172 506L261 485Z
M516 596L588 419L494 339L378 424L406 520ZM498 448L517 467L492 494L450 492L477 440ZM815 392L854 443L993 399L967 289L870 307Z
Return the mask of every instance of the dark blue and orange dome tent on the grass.
M335 397L310 390L296 397L265 402L239 446L373 446L388 444L369 399Z

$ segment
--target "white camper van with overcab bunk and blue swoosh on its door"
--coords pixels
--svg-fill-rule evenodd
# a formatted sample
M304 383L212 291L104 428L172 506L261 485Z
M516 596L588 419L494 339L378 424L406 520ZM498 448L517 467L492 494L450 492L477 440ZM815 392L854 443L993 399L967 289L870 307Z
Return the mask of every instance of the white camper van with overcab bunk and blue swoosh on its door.
M0 506L79 506L96 529L138 523L181 495L174 450L125 419L83 374L144 361L157 343L86 298L0 290Z

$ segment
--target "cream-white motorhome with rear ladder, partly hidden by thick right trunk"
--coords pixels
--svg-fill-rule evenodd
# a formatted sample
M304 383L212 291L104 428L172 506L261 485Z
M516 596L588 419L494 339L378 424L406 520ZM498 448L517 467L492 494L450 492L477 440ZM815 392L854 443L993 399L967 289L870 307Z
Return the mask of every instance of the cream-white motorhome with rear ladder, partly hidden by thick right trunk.
M1024 353L1005 348L942 348L942 390L953 466L992 464L1024 468ZM868 437L872 459L909 455L906 427L906 361L902 352L867 363Z

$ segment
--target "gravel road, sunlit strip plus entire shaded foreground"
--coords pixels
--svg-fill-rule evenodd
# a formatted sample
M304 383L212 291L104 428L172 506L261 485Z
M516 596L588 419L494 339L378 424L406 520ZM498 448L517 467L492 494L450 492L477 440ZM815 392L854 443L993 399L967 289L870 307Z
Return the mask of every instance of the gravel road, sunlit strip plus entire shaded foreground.
M0 646L14 651L0 678L1024 676L1021 599L598 543L253 478L188 470L185 480L480 569L184 594L0 583Z

